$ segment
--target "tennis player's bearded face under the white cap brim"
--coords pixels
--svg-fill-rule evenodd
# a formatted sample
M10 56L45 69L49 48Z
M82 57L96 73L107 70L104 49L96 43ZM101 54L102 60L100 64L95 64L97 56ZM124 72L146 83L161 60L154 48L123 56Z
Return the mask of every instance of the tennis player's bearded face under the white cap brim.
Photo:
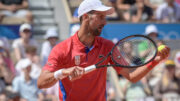
M106 14L98 11L94 11L89 15L90 23L89 28L93 35L99 36L103 27L106 25Z

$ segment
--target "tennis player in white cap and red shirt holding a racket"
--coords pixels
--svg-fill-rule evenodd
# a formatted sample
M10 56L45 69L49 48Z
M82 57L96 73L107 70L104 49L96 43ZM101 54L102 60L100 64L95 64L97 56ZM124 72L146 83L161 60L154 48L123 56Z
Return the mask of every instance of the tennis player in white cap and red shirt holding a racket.
M88 74L84 73L84 68L99 62L99 55L106 56L112 49L114 44L99 35L106 25L106 15L113 12L112 7L103 5L99 0L84 0L80 4L78 17L81 27L72 37L52 49L38 79L39 88L48 88L59 82L60 101L106 101L107 68ZM169 55L169 48L158 54L161 57L159 60L134 71L114 68L131 82L137 82ZM108 63L112 63L110 57L103 62ZM72 77L72 81L68 76Z

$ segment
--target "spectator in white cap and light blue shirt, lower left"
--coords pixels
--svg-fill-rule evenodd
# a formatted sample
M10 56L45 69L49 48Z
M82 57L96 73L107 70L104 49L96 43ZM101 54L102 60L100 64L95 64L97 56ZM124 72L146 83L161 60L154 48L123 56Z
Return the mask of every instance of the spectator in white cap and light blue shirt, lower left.
M13 91L19 93L23 100L43 101L44 96L37 88L37 80L30 76L31 60L22 59L20 63L19 68L21 68L23 75L17 76L13 80Z

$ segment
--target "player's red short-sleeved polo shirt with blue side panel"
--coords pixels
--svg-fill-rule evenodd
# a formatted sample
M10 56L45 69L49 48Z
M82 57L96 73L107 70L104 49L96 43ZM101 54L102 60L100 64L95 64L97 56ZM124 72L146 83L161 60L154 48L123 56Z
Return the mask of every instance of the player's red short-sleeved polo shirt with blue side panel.
M73 66L87 67L98 63L106 56L114 44L101 37L96 37L92 50L86 52L86 46L78 38L77 33L69 39L56 45L48 58L44 70L54 72ZM111 62L110 57L102 64ZM115 68L118 72L121 68ZM82 78L71 82L68 78L59 81L60 101L106 101L107 68L97 69Z

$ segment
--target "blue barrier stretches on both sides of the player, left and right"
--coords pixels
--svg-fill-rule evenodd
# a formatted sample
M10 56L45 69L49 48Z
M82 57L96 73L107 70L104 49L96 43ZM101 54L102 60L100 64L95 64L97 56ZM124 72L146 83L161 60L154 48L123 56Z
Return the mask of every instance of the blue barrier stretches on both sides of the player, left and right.
M104 27L101 36L112 40L113 38L121 39L133 34L144 34L147 25L109 23ZM159 39L180 39L180 24L155 25L159 30ZM0 25L0 36L5 36L8 39L18 38L19 25Z

